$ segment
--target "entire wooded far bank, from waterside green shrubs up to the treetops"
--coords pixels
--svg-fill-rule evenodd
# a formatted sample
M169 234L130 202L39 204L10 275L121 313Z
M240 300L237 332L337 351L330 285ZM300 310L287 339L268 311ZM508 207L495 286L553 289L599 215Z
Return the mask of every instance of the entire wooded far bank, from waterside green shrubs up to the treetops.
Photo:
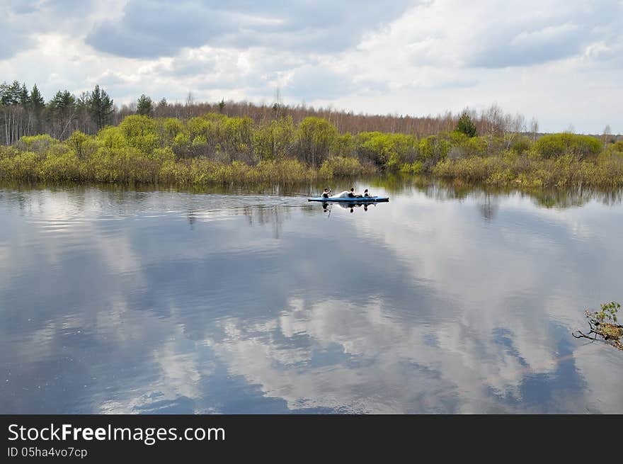
M413 118L251 103L117 108L104 89L76 97L0 85L0 179L164 185L299 183L403 173L495 186L623 186L623 140L541 134L492 105Z

